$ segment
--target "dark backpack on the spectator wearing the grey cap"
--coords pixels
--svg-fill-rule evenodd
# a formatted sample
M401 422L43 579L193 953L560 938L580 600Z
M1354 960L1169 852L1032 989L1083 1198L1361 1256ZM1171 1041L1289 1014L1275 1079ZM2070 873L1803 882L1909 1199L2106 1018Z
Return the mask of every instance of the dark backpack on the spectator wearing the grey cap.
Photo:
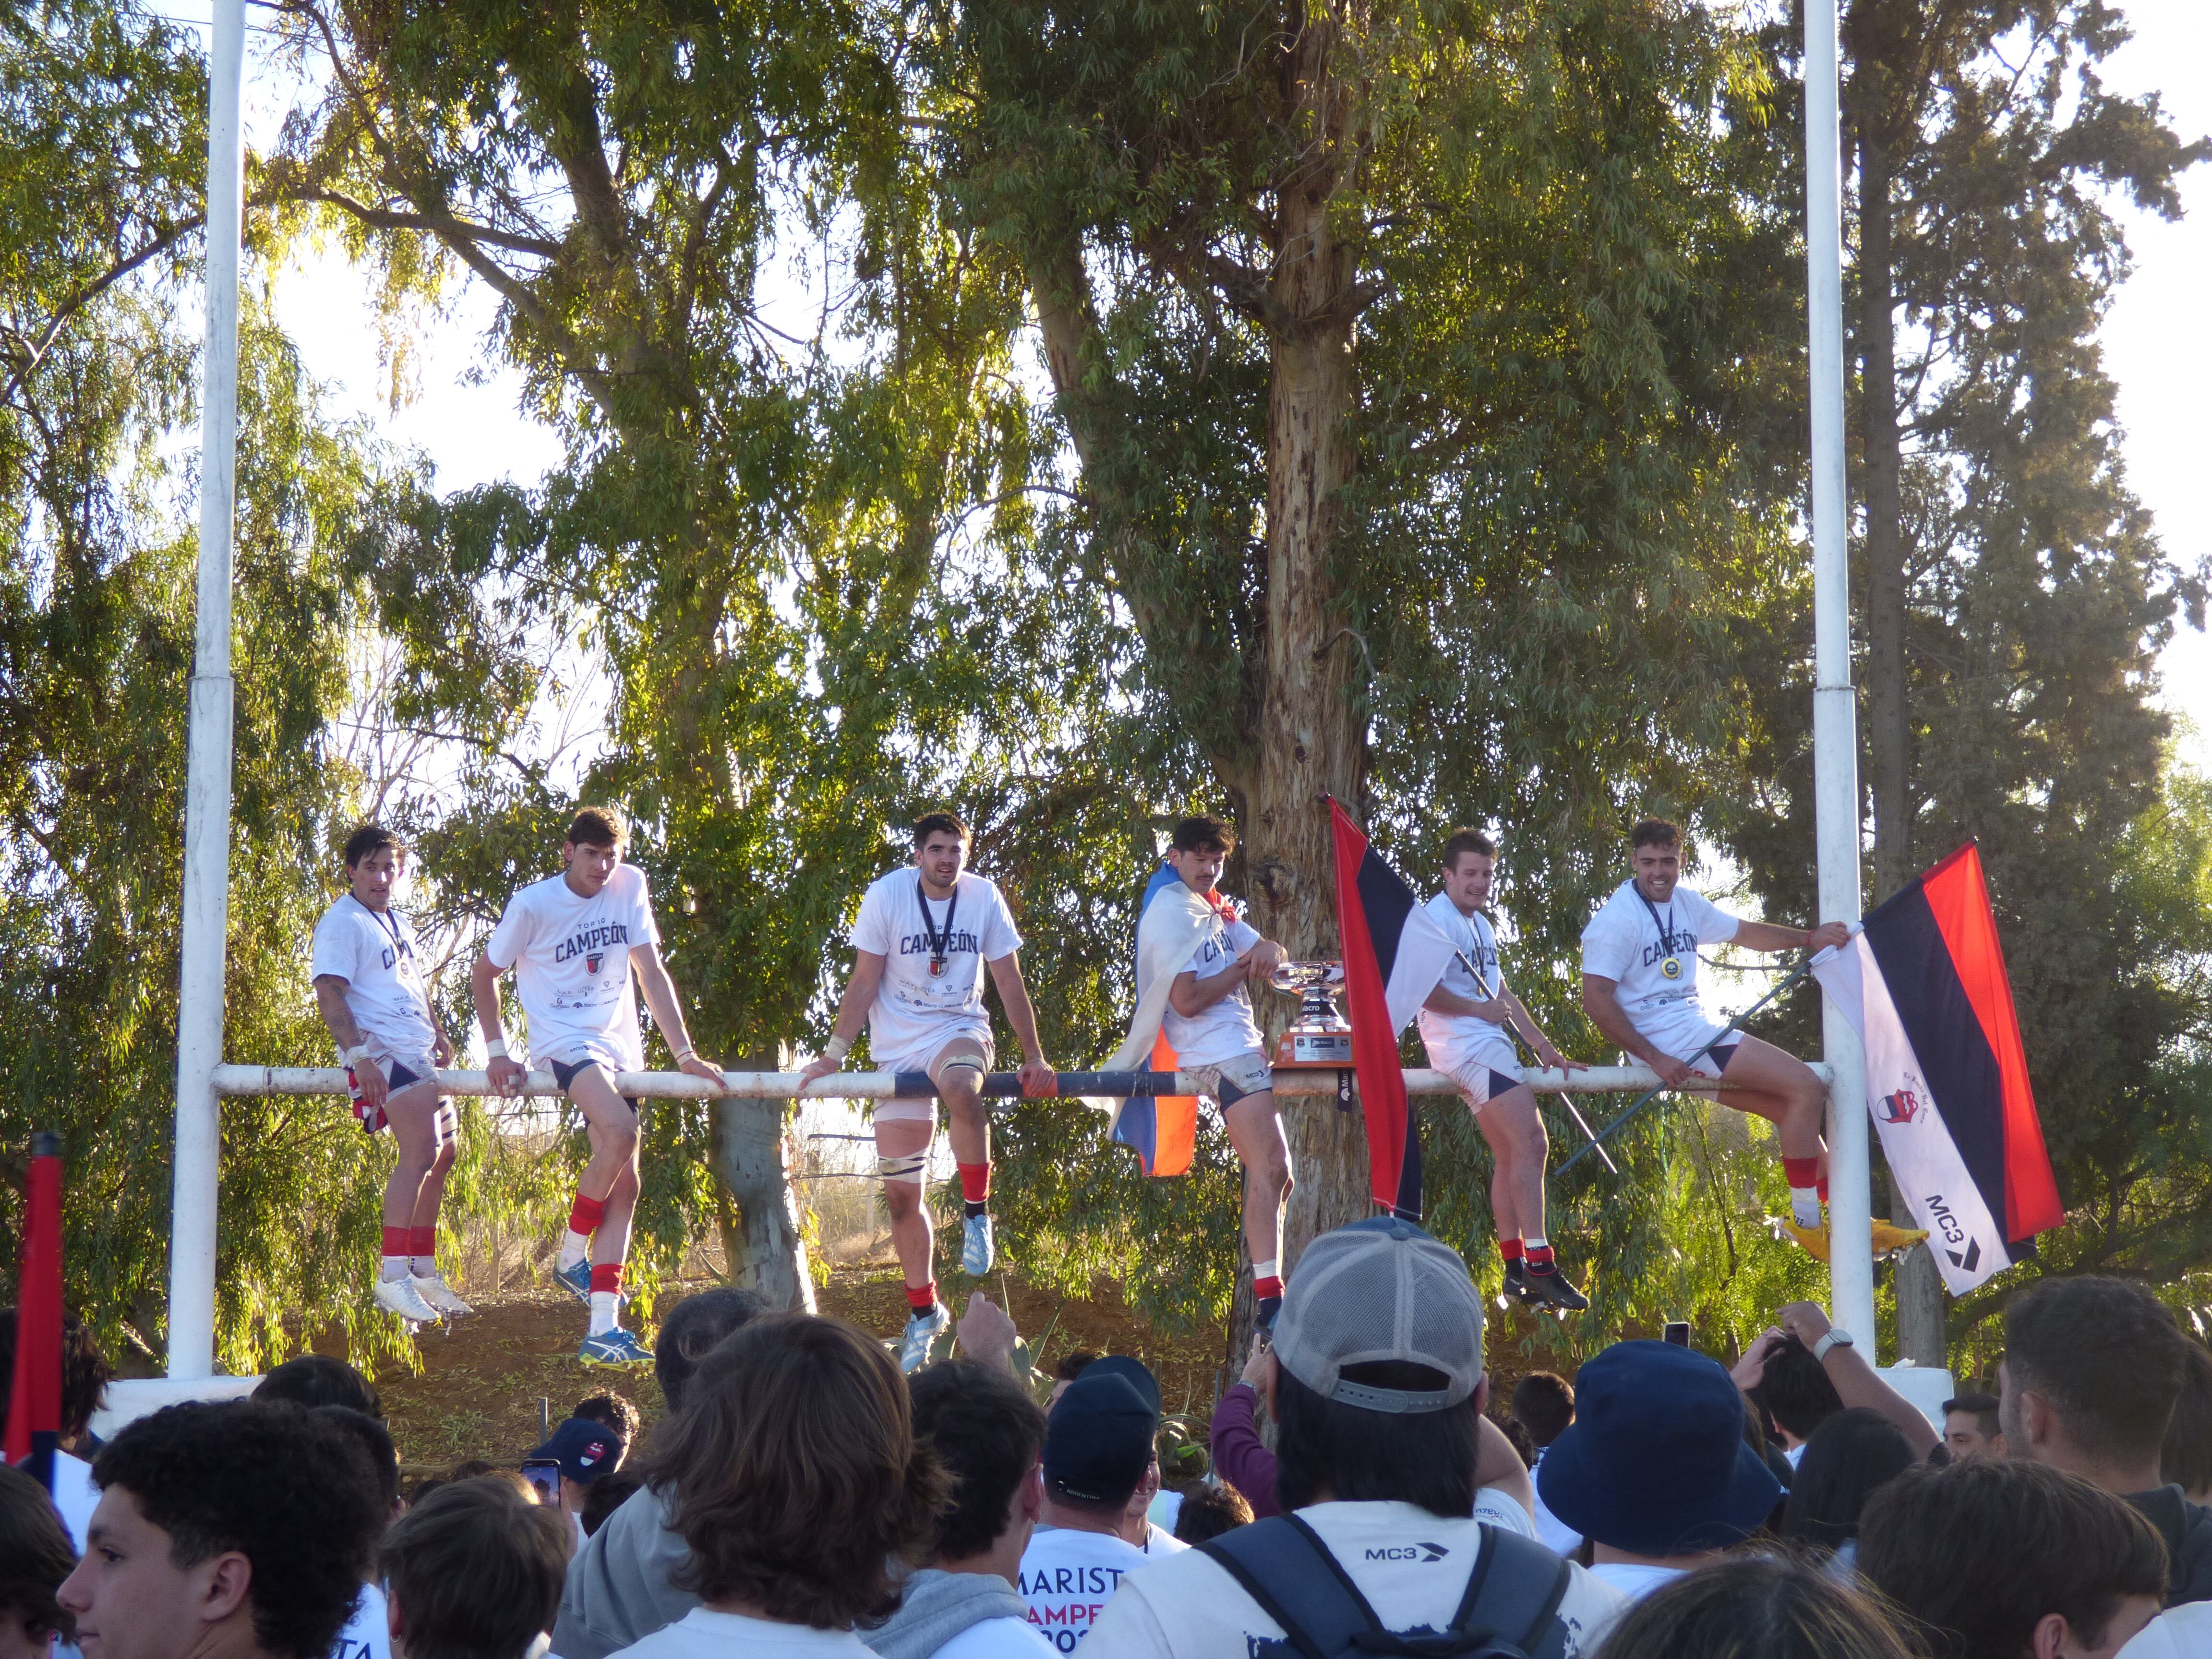
M1239 1526L1199 1544L1283 1626L1283 1641L1252 1644L1252 1659L1564 1659L1555 1617L1573 1571L1542 1544L1482 1522L1475 1571L1444 1630L1387 1630L1367 1597L1296 1515Z

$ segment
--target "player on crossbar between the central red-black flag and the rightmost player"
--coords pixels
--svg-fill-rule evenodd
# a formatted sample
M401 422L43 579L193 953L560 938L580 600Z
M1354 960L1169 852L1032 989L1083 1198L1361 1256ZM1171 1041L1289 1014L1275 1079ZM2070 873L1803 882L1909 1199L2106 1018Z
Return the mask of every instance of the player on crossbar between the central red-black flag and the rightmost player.
M1444 891L1429 900L1429 916L1458 960L1420 1004L1420 1040L1429 1064L1460 1086L1491 1146L1491 1219L1506 1259L1506 1294L1579 1312L1590 1298L1559 1272L1544 1237L1544 1115L1522 1082L1513 1033L1540 1066L1564 1071L1575 1062L1551 1044L1498 969L1498 933L1482 914L1495 869L1498 845L1480 830L1453 830L1444 841Z

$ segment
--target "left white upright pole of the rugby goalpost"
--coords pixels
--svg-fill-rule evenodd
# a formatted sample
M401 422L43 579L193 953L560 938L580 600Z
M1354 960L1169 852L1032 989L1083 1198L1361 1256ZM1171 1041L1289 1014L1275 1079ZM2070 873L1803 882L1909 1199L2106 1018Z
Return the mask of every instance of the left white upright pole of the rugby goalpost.
M168 1243L168 1374L215 1371L223 956L230 927L230 526L239 442L239 204L246 0L215 0L208 40L208 349L199 394L199 611L184 783L184 958Z

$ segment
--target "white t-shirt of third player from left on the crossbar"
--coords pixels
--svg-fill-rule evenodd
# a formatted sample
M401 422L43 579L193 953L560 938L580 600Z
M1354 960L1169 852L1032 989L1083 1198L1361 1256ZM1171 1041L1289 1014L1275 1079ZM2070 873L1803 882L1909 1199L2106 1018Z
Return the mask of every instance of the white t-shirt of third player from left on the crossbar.
M936 945L931 945L936 938ZM982 964L1022 949L1004 894L960 872L953 896L922 907L920 872L894 869L860 896L852 947L883 958L883 984L867 1011L867 1051L878 1071L927 1071L953 1037L991 1040ZM945 951L945 971L929 964Z

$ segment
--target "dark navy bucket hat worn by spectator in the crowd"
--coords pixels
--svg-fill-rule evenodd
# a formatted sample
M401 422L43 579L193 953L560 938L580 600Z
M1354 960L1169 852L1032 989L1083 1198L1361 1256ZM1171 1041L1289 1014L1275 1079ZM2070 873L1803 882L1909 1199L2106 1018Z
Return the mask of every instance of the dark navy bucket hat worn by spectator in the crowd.
M1544 1506L1635 1555L1741 1544L1783 1486L1743 1444L1743 1396L1719 1360L1615 1343L1575 1374L1575 1420L1535 1471Z

